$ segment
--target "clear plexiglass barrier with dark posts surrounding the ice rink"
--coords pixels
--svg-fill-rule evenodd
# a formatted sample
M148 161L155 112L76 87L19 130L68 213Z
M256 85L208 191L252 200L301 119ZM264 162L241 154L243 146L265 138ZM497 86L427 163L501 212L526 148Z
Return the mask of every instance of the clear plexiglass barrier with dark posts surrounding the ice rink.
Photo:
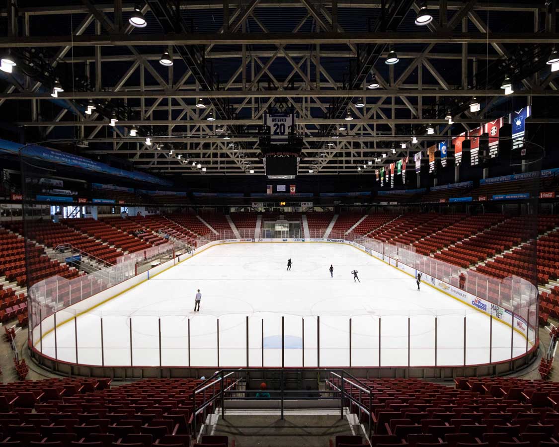
M216 235L231 241L224 236L230 235ZM423 272L422 287L464 306L350 314L321 308L313 315L205 312L195 318L190 302L188 309L172 312L140 305L116 312L92 308L88 297L134 276L135 261L128 260L94 275L36 283L30 290L32 343L42 354L70 363L153 367L459 366L504 362L536 345L537 289L527 280L487 277L364 236L334 234L328 240L343 239L401 270L406 280ZM198 242L200 250L208 241Z

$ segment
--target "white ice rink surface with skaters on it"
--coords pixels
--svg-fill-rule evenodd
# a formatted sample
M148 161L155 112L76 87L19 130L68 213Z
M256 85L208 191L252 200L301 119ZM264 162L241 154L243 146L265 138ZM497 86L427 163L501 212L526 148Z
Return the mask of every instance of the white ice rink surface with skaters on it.
M353 269L361 283L354 282ZM197 289L201 307L193 312ZM73 316L59 313L58 321ZM304 360L306 367L316 367L317 317L321 367L349 366L350 341L353 367L378 366L379 347L382 366L408 365L408 352L411 366L434 365L435 318L437 365L463 364L465 317L466 364L488 363L490 349L493 362L511 354L510 326L494 320L490 341L488 316L427 284L418 292L414 278L353 246L277 242L201 250L79 316L78 362L159 365L160 323L162 365L217 367L219 356L221 367L245 366L247 316L254 367L262 361L281 366L282 316L286 366L299 367ZM76 361L75 332L73 320L56 330L58 359ZM525 338L512 333L513 355L525 353ZM54 343L51 331L42 339L42 352L54 357Z

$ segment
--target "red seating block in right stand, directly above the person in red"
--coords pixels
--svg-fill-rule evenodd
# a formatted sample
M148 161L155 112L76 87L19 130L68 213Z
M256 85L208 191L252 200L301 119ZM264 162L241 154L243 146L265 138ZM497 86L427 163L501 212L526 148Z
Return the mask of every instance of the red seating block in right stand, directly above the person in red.
M470 267L534 236L534 226L525 217L512 217L470 239L435 253L434 257L460 267Z

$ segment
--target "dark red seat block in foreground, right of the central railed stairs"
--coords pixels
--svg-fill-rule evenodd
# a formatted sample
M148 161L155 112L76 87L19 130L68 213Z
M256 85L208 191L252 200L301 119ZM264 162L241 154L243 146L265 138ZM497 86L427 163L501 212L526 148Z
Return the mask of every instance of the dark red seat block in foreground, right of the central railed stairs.
M444 447L541 447L559 435L559 383L518 378L457 378L455 387L420 379L361 379L368 392L349 388L361 407L353 413L373 419L371 445ZM339 387L339 379L327 384ZM341 438L341 437L340 437ZM549 444L540 444L548 441ZM512 444L502 444L502 443ZM460 444L457 444L460 443ZM369 445L366 441L363 444ZM346 445L346 444L343 444ZM557 445L557 444L556 444Z

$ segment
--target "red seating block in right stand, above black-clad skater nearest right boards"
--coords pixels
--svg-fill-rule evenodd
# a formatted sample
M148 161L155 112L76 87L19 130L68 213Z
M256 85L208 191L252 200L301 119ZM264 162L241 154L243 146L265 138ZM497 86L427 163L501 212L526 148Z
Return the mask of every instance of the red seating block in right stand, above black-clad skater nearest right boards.
M445 229L435 232L425 239L414 242L416 253L429 255L435 251L442 250L459 240L470 237L488 227L498 224L504 220L503 215L485 214L481 216L462 217L461 220Z

